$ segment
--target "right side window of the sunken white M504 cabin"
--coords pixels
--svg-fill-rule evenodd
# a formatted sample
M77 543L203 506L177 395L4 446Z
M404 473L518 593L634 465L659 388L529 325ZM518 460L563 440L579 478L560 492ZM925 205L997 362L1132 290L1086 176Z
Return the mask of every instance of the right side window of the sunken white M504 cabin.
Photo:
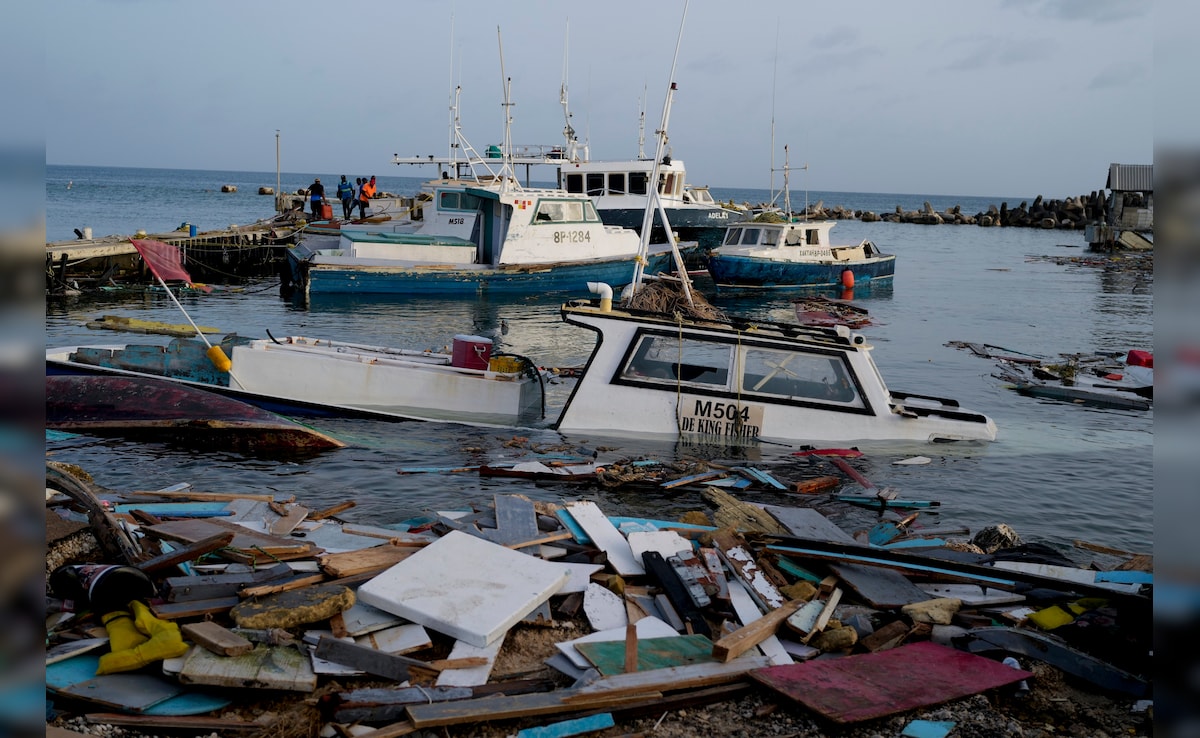
M748 348L742 391L864 407L840 356Z

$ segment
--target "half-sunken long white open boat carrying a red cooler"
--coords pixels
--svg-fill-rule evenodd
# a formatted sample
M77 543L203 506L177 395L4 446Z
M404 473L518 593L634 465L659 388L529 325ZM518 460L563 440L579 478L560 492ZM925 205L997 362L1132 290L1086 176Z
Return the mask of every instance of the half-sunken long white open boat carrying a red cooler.
M230 395L293 416L450 420L511 426L544 413L541 376L518 355L493 355L492 342L460 335L452 353L408 350L290 336L226 336L221 371L198 340L166 346L50 348L47 373L157 377Z

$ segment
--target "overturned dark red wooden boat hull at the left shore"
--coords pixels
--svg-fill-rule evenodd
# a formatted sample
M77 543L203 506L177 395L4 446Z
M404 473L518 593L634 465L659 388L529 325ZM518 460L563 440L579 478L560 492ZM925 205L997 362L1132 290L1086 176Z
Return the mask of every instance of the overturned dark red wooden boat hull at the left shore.
M252 404L148 377L48 376L46 427L248 452L308 452L346 445Z

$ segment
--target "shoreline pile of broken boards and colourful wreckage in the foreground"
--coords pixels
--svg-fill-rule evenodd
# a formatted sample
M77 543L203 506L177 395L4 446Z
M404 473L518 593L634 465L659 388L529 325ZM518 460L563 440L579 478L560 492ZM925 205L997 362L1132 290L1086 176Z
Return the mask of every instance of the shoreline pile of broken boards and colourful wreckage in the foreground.
M658 484L816 490L685 470ZM950 547L910 535L914 515L894 520L893 517L852 534L810 506L818 494L756 505L718 486L688 522L496 494L397 527L338 520L353 503L114 492L53 462L47 486L55 725L614 736L750 690L814 725L872 725L1020 695L1050 666L1128 703L1150 691L1148 557L1048 564L1004 526Z

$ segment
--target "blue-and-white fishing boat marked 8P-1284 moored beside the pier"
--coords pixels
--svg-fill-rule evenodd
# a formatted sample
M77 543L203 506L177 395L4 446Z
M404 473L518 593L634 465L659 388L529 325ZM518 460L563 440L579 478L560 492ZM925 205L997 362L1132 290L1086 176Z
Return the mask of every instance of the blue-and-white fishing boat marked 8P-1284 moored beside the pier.
M586 196L504 181L434 180L421 217L385 228L343 228L336 248L301 242L293 278L318 293L422 294L553 292L588 280L626 283L640 250L635 232L605 224ZM650 274L671 248L650 248Z

